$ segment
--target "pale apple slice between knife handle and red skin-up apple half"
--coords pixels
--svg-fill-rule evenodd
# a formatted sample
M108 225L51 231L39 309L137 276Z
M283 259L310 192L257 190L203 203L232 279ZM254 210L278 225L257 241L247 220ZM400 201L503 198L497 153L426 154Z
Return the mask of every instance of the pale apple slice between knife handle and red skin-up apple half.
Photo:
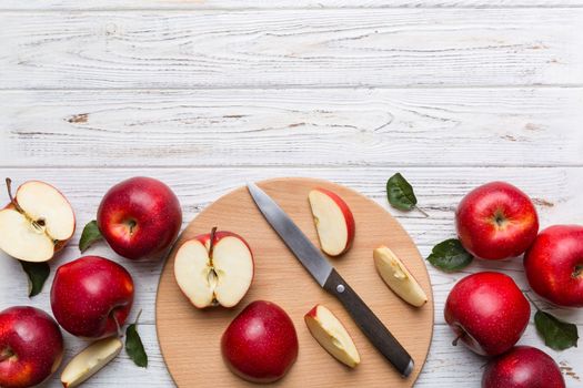
M322 305L315 305L304 315L305 325L315 340L340 363L354 368L360 355L342 323Z

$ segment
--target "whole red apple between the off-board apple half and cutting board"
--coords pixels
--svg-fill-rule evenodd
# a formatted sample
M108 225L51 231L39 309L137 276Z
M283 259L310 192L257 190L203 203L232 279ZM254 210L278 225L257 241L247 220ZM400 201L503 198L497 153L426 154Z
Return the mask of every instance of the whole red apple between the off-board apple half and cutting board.
M160 258L177 238L182 211L174 193L151 177L118 183L103 196L98 226L113 251L130 259Z

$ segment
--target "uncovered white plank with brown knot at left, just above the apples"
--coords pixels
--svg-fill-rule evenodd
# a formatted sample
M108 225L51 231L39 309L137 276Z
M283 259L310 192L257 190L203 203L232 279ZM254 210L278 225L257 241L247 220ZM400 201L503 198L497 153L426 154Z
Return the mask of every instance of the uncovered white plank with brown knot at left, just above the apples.
M0 100L4 167L583 165L573 126L583 122L581 88L4 91Z

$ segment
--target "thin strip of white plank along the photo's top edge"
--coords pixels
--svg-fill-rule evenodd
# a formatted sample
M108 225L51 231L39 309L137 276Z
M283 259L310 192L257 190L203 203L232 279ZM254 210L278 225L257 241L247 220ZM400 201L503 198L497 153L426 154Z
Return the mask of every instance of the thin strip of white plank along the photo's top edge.
M0 10L300 9L300 8L524 8L580 7L581 0L4 0Z

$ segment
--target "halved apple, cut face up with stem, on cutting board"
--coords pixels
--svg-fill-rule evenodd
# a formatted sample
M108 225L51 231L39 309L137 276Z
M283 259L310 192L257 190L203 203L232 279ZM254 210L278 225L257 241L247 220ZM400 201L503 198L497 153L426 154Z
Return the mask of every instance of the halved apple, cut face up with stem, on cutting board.
M174 276L195 307L233 307L253 280L253 254L243 237L213 229L180 246Z

